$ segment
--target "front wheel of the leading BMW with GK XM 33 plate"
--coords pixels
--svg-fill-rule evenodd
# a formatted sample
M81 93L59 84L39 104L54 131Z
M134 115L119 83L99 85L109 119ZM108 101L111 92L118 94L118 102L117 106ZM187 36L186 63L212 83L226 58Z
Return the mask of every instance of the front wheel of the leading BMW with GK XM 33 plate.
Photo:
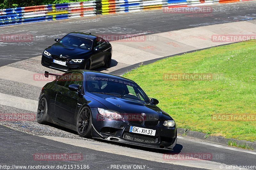
M76 130L80 137L92 137L92 113L89 107L84 107L80 111L77 117Z

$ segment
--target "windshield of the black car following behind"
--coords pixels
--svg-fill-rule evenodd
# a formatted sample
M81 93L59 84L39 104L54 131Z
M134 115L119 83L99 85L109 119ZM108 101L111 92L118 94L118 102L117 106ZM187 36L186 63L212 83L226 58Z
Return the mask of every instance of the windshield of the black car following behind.
M67 44L74 47L92 49L92 40L83 37L77 37L73 35L66 35L60 40L61 44Z

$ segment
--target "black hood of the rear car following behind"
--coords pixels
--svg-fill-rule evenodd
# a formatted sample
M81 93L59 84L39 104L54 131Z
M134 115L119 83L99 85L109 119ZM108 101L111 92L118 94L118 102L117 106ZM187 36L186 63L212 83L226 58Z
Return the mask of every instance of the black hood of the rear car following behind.
M45 50L51 53L52 55L62 55L70 59L82 59L85 55L88 55L92 52L92 50L61 44L59 42L53 44Z

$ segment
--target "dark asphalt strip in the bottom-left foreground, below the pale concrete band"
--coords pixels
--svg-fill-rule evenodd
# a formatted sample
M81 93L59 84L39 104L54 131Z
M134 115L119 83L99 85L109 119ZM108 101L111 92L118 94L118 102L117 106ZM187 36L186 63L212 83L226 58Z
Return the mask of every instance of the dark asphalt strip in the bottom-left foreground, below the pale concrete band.
M135 159L106 152L95 151L64 144L61 142L31 136L0 126L1 134L1 164L9 166L58 166L58 165L89 165L88 169L111 169L111 165L144 165L145 169L197 169L186 166L170 166L160 162ZM4 135L4 138L3 138ZM82 161L38 161L37 153L80 153ZM142 166L142 167L144 167ZM3 169L3 168L1 168ZM24 168L25 169L25 168ZM83 168L85 169L85 168Z

